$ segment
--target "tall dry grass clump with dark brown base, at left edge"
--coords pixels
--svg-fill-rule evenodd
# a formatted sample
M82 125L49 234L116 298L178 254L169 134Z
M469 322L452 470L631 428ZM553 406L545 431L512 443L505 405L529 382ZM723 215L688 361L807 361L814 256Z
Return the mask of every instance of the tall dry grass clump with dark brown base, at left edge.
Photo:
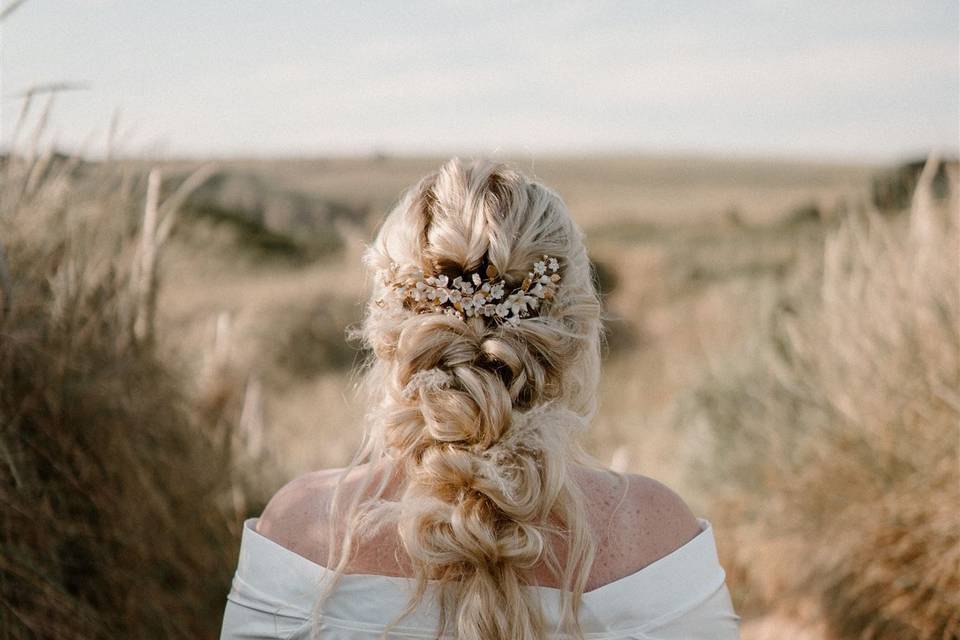
M153 346L167 218L144 183L29 145L0 175L4 638L212 637L260 506L236 390Z

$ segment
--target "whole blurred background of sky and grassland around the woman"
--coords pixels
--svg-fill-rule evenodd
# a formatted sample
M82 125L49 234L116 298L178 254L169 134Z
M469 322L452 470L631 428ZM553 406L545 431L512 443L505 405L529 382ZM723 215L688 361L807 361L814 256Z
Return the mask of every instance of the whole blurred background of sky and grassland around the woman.
M215 637L346 463L360 252L446 158L585 230L588 446L745 640L960 638L956 2L0 5L0 635Z

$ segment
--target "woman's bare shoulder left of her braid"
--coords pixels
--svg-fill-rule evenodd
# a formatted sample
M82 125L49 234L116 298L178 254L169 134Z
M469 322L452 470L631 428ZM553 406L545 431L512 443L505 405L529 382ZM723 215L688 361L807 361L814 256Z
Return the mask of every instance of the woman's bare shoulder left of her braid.
M312 471L277 491L257 521L257 532L311 560L326 555L326 523L340 469Z

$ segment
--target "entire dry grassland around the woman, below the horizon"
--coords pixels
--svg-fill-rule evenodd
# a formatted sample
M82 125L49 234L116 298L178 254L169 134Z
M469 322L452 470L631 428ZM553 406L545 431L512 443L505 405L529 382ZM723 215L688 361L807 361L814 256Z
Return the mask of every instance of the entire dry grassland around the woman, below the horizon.
M7 160L0 365L18 383L0 382L0 415L29 418L2 436L3 498L19 514L0 521L0 557L17 558L0 560L7 636L215 633L243 517L357 443L362 354L346 332L360 252L442 160L222 160L179 207L200 163L161 163L150 181L140 160ZM956 201L873 212L882 167L866 164L515 164L564 197L603 290L589 449L714 520L744 638L958 637ZM38 459L80 471L51 483L25 472ZM84 482L103 478L137 491L89 498ZM66 527L78 509L87 524ZM176 544L125 547L144 522ZM104 531L113 542L98 547ZM74 548L102 565L87 587ZM104 568L115 553L123 575ZM130 586L138 563L165 576L156 592ZM103 594L130 589L151 607L102 613ZM199 611L183 610L186 592ZM45 615L57 594L84 621L72 636Z

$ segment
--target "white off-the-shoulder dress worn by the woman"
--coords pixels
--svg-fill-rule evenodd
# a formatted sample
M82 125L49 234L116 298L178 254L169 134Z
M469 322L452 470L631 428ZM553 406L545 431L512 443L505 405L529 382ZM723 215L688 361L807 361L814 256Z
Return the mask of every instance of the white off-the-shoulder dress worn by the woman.
M700 533L679 549L583 595L580 622L587 640L739 638L740 618L717 559L713 528L704 519L699 522ZM409 578L350 574L314 613L321 583L333 572L265 538L255 526L256 519L244 523L221 640L374 640L406 607L413 585ZM560 592L527 588L540 594L545 617L555 626ZM387 637L436 638L437 615L425 598Z

